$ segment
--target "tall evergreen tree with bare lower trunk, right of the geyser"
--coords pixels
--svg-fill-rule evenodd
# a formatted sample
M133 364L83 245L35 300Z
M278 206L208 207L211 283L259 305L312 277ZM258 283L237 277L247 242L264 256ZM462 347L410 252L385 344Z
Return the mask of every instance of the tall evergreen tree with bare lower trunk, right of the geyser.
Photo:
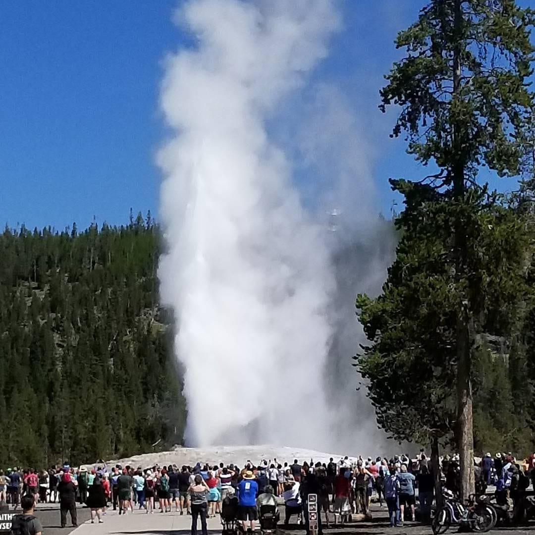
M518 324L509 319L519 319L515 305L523 299L517 275L528 260L524 251L515 250L515 235L504 240L508 226L504 233L499 223L502 216L510 216L487 192L479 172L487 167L500 177L515 177L524 171L535 109L530 89L534 25L535 12L522 9L515 0L427 0L414 24L398 34L396 47L404 55L381 90L383 111L398 106L391 135L406 136L407 152L424 166L431 165L432 171L392 181L406 197L407 211L399 224L410 233L410 241L398 248L383 301L358 303L373 341L360 361L361 370L370 380L372 399L381 381L389 383L383 359L395 366L402 349L409 361L414 348L425 358L424 368L434 365L427 366L430 384L446 370L446 383L455 391L454 434L463 498L475 487L473 393L478 354L486 334L499 330L500 321L501 334L513 337ZM425 280L419 285L424 268ZM417 303L410 299L411 284ZM508 311L513 317L507 317ZM395 328L400 321L408 324L408 332ZM388 346L384 338L392 333L381 329L379 334L375 323L392 327L400 345ZM406 385L399 381L395 388L403 391ZM429 394L432 391L431 387ZM390 394L384 388L381 398ZM426 411L432 398L419 399L427 402L422 407ZM450 422L450 411L442 412ZM413 415L412 426L420 419L424 427L436 424L426 416ZM448 422L440 422L440 428Z

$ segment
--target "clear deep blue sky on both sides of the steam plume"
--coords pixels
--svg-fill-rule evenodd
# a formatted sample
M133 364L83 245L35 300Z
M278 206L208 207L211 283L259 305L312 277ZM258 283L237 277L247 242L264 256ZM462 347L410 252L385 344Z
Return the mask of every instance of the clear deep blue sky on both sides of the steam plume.
M522 2L527 4L528 2ZM157 216L155 152L162 59L188 45L172 23L177 0L12 0L0 3L0 224L62 229L125 223L130 208ZM377 109L393 39L423 0L340 0L345 29L314 74L343 88L371 140L377 211L389 215L387 179L421 176L388 137ZM104 9L105 6L105 9Z

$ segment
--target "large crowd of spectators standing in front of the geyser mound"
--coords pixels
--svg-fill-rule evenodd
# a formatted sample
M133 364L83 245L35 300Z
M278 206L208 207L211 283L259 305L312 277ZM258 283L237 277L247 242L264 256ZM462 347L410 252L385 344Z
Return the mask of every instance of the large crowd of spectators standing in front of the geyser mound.
M460 471L458 457L441 458L439 478L451 491L458 492ZM517 462L513 455L487 453L474 467L479 492L495 485L496 492L510 499L509 490L527 488L535 483L535 454ZM534 485L535 488L535 485ZM392 458L346 456L338 461L260 463L248 461L243 467L235 464L201 464L191 467L176 464L136 468L106 464L74 469L69 465L50 470L17 468L0 471L0 499L16 508L21 497L32 504L59 501L61 525L70 515L77 525L76 503L91 510L91 522L103 522L109 508L127 515L134 510L165 514L174 510L192 516L192 534L196 535L197 519L207 533L207 517L222 511L225 500L238 498L238 519L243 530L255 529L262 506L278 508L284 502L284 522L292 517L308 531L308 495L316 494L322 521L329 526L343 524L355 514L369 515L370 500L375 497L379 507L386 506L391 525L410 519L428 519L434 499L434 477L430 458L423 452L417 458L395 455ZM419 506L416 509L416 498ZM322 518L323 515L323 518Z

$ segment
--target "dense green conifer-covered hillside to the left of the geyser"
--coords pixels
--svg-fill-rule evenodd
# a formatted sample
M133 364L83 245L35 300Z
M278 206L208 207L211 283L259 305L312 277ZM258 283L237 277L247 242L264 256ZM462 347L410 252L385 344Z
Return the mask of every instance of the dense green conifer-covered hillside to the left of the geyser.
M180 441L158 229L0 235L0 465L73 464Z

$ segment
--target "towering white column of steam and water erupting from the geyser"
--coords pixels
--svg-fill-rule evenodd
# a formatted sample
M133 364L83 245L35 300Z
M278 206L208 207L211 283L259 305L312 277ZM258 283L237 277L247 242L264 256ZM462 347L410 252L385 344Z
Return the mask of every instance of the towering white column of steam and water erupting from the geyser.
M330 0L193 0L178 21L195 43L167 59L162 88L174 137L158 156L159 278L185 367L186 441L332 447L330 233L266 121L326 55L338 14Z

